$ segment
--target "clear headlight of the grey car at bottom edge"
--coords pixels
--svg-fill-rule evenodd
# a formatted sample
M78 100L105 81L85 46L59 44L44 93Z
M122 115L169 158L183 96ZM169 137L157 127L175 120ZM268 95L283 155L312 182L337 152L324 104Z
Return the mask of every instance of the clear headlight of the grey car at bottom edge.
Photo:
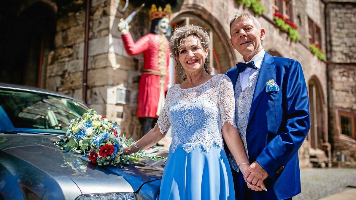
M83 194L75 200L136 200L135 193L96 193L96 194Z

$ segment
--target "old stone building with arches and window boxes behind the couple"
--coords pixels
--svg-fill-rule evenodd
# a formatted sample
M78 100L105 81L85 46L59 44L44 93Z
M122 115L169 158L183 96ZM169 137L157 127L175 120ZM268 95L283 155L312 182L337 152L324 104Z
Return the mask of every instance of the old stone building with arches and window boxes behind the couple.
M132 0L124 9L125 0L87 2L2 1L0 25L5 28L0 31L0 81L83 99L100 114L118 121L126 136L138 139L141 126L136 104L143 56L127 55L117 24L141 3ZM177 0L173 6L172 28L194 23L209 31L213 43L209 61L216 74L242 60L229 41L230 19L236 10L248 6L239 2ZM310 162L324 166L333 160L340 164L337 157L342 155L351 166L355 159L355 1L256 2L251 10L258 12L261 6L264 10L256 14L266 30L263 48L274 56L298 60L308 85L312 128L299 150L301 167L311 166ZM149 32L149 7L143 7L130 23L134 41ZM281 23L292 30L283 30ZM180 83L171 65L172 84Z

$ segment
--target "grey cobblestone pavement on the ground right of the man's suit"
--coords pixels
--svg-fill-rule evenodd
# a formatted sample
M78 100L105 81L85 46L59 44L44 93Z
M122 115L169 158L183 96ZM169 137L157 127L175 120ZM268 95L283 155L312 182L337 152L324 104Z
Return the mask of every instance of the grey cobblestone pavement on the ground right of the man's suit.
M356 187L356 168L302 169L300 178L302 193L293 200L316 200Z

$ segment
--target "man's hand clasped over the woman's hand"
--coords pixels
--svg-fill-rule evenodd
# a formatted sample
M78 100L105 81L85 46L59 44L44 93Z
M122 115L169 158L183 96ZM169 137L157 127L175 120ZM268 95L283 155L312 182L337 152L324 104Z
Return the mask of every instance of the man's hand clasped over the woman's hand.
M267 177L267 172L257 161L253 162L244 173L245 181L252 185L257 185L258 187L263 184L263 180Z

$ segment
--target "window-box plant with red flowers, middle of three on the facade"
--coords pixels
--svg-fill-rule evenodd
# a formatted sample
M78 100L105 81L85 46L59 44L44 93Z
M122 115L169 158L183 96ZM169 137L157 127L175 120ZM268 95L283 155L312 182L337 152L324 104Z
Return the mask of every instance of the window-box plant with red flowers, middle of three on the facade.
M288 21L288 19L281 14L275 13L273 14L273 16L274 16L273 20L276 21L276 24L279 27L279 29L281 31L288 32L290 40L294 42L298 42L300 40L300 36L297 31L298 27L294 23Z

